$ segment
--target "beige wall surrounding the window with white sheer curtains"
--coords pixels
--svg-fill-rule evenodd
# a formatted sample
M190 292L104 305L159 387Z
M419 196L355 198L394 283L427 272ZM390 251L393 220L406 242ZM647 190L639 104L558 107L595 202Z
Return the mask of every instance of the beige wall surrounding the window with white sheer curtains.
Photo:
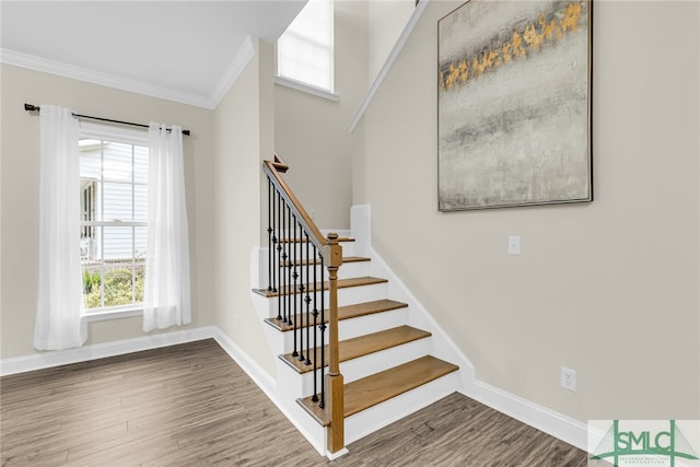
M101 85L1 65L2 115L2 288L1 358L35 352L38 266L39 119L24 103L55 104L85 115L137 122L178 124L184 138L189 222L192 324L214 324L213 112ZM140 317L89 325L88 343L143 336Z

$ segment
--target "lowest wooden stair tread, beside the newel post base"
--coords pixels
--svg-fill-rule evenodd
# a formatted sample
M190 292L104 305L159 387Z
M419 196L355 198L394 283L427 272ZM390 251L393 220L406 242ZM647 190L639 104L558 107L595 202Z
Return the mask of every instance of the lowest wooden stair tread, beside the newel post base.
M345 417L374 407L457 370L457 365L425 355L348 383L345 385ZM296 399L296 402L319 424L327 427L330 423L326 412L318 408L317 402L312 401L311 396Z

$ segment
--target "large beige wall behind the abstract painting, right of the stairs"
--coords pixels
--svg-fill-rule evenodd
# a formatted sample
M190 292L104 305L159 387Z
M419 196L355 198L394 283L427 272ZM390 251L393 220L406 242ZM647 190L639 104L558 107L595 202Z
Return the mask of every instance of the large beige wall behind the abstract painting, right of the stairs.
M700 418L700 3L596 2L594 202L440 213L436 22L459 4L428 4L355 133L375 248L479 380L582 421Z

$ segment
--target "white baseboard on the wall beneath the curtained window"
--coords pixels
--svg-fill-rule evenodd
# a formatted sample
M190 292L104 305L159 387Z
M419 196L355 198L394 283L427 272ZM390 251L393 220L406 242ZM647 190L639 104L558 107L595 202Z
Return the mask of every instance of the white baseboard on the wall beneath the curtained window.
M15 357L0 360L0 376L35 370L50 369L71 363L86 362L160 347L176 346L195 340L214 337L214 326L176 330L173 332L154 334L133 339L115 340L113 342L94 343L77 349L40 352L32 355Z

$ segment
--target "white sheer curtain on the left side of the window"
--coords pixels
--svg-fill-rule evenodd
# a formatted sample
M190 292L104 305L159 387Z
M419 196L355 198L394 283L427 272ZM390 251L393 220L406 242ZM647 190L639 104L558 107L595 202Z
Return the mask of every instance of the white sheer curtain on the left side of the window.
M39 265L34 347L61 350L85 342L80 267L78 119L40 106Z

